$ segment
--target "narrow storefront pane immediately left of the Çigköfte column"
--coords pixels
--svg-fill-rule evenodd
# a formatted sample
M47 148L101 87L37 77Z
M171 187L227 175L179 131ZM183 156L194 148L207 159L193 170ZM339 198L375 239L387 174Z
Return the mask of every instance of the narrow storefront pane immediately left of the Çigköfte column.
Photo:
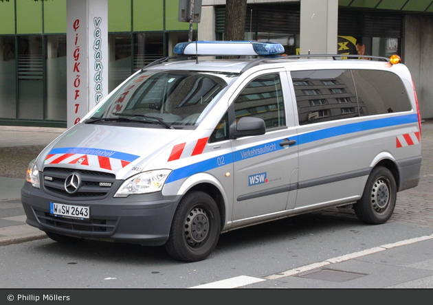
M47 64L45 120L66 120L66 35L47 36L45 49Z

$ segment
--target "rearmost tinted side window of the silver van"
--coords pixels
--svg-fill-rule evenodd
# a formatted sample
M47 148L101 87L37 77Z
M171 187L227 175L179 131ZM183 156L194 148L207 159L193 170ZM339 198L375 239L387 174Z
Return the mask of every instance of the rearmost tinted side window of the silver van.
M358 99L365 115L410 111L412 106L401 79L388 71L353 70Z

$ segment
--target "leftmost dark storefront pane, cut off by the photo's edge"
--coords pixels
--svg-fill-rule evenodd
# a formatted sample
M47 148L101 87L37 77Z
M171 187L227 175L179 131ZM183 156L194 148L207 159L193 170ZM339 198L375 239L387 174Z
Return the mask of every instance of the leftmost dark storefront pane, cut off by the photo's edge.
M16 117L15 38L0 36L0 118Z

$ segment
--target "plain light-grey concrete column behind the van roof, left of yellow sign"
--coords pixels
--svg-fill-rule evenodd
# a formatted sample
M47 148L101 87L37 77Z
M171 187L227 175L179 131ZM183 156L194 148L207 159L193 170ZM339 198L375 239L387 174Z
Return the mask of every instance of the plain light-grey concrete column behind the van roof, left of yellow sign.
M338 0L300 0L300 54L337 54Z

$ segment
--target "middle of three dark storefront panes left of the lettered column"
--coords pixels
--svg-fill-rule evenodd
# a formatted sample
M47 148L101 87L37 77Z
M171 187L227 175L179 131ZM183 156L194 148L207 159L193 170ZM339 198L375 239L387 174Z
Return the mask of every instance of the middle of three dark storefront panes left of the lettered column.
M43 120L42 36L18 36L18 118Z

